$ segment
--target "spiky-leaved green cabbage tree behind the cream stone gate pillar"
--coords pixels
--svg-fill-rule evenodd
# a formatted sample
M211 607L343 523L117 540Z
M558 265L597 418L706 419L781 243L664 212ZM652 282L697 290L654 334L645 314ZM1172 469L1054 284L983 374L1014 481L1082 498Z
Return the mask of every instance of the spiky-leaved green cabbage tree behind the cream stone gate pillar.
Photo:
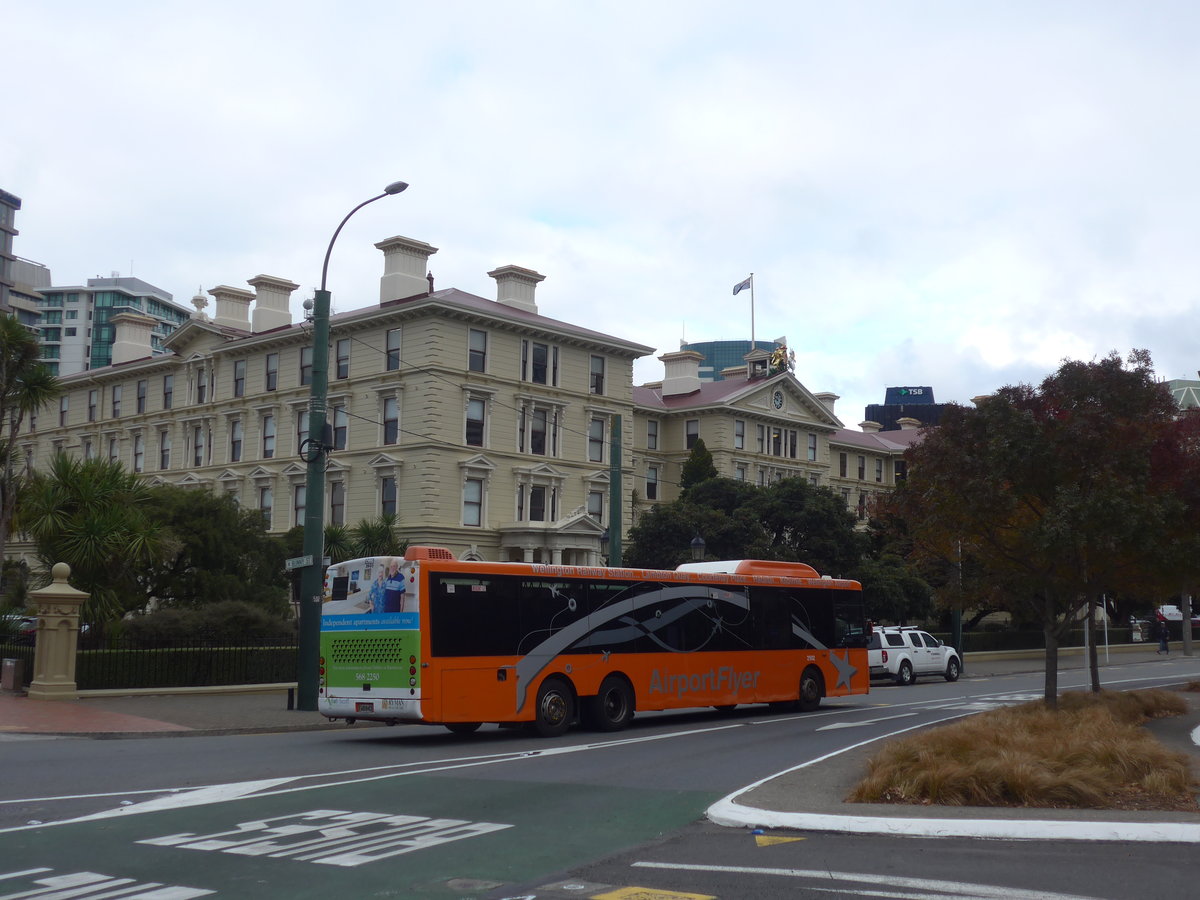
M150 516L151 488L108 460L54 456L24 486L14 527L34 540L44 570L71 566L71 582L90 594L83 619L103 623L146 605L143 574L175 547Z

